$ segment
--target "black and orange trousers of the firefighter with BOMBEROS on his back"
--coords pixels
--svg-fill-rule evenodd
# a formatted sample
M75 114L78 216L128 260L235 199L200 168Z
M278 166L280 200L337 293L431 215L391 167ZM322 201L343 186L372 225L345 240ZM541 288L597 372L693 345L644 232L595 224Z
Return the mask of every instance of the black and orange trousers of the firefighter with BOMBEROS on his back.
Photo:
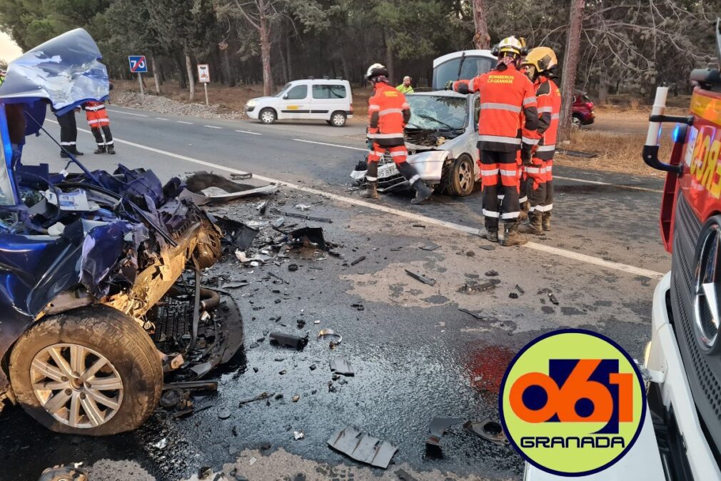
M480 155L485 225L487 230L498 230L499 219L513 223L521 213L516 151L481 150ZM499 195L503 195L503 204Z

